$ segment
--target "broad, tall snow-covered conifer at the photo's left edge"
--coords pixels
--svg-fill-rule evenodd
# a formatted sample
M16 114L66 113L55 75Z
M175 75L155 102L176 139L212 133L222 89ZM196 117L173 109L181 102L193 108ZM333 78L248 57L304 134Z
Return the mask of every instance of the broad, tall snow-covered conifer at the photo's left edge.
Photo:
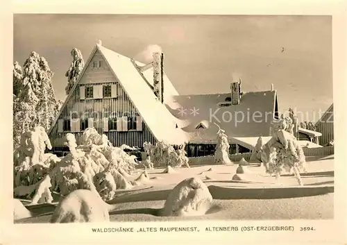
M24 62L22 73L17 62L15 62L13 73L14 78L21 78L19 93L14 97L13 108L14 147L17 147L20 135L30 130L35 124L48 130L56 117L58 108L51 84L53 72L43 57L35 51L31 52Z

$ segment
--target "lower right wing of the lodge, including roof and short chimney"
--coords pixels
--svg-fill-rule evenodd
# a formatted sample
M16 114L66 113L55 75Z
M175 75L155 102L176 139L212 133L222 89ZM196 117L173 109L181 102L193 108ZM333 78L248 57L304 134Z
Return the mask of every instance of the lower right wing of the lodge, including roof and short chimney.
M271 122L278 119L276 90L242 94L240 88L236 82L226 94L178 95L167 103L171 114L184 121L189 156L214 153L218 126L228 135L230 153L249 152L253 149L249 137L270 135Z

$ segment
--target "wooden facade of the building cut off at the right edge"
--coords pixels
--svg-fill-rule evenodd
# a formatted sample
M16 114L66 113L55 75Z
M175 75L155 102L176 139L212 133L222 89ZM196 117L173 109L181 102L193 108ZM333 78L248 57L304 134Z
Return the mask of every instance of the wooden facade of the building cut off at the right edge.
M334 105L330 105L321 119L316 122L316 131L322 134L320 144L324 146L334 140Z

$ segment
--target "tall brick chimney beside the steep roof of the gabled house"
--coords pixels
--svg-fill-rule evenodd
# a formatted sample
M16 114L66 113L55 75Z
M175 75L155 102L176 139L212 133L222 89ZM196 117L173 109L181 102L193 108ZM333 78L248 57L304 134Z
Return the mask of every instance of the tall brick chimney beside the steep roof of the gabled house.
M153 53L153 92L158 97L160 103L164 102L164 54Z

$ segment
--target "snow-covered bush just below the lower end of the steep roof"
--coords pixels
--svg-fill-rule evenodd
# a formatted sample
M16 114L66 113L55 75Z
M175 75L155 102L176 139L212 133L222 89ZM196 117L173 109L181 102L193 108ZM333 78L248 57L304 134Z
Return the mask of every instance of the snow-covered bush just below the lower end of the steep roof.
M184 147L184 145L180 145L178 149L175 150L174 146L166 142L157 142L155 146L151 143L144 142L144 149L147 155L149 155L149 160L153 162L153 165L156 167L189 167L189 159L186 156Z

